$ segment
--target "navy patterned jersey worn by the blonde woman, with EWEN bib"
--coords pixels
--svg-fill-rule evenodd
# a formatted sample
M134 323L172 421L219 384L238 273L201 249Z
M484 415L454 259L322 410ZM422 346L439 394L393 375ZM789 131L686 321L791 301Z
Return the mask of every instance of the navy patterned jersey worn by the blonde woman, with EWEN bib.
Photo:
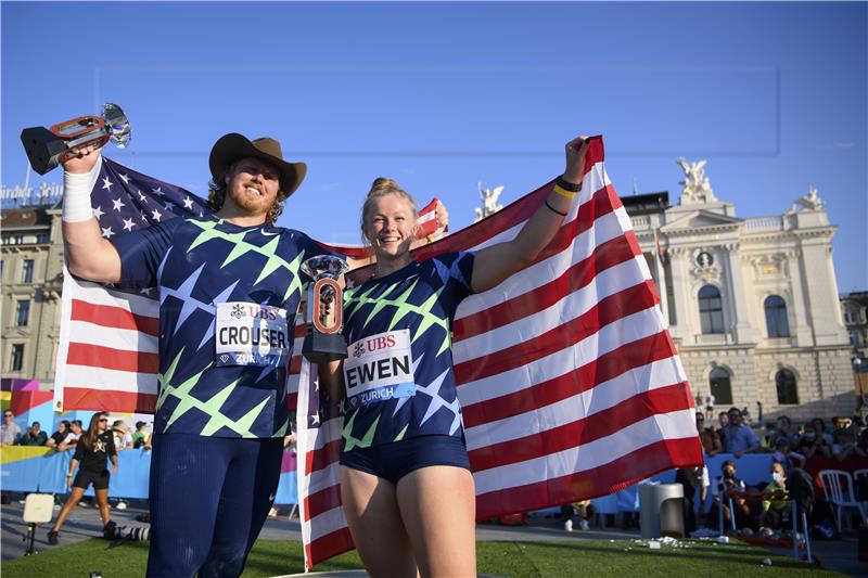
M344 293L342 451L424 435L463 435L452 320L471 294L472 253L412 262Z

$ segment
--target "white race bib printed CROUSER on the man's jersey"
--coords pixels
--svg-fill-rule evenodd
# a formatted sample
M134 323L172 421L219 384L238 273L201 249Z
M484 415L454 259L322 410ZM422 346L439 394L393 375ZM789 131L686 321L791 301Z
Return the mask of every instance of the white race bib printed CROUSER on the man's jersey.
M216 360L221 365L286 363L290 334L286 311L270 305L229 301L217 304Z

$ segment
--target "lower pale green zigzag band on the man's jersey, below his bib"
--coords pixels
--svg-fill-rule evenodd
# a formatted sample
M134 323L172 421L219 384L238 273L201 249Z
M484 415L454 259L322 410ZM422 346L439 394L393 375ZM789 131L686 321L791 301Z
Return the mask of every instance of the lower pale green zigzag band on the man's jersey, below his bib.
M268 398L264 398L258 406L253 408L251 411L245 413L240 420L232 420L231 418L224 415L220 412L220 408L226 402L229 395L234 389L238 381L234 381L217 391L210 399L207 401L202 401L194 396L191 395L193 387L199 383L199 380L202 377L202 374L210 367L210 363L205 365L202 371L192 375L186 382L180 384L174 385L171 383L175 369L178 367L178 361L181 359L183 355L183 347L175 359L171 361L168 371L166 374L157 374L157 380L159 381L159 396L157 397L156 409L163 406L166 399L171 396L178 398L179 402L175 410L171 412L171 415L166 421L166 429L171 427L171 424L175 423L178 418L187 413L192 409L196 409L207 415L209 415L208 423L205 424L205 427L202 428L200 435L202 436L212 436L217 433L221 427L228 427L229 429L235 432L241 437L258 437L251 432L251 426L253 426L256 418L261 413L263 409L268 404ZM276 434L282 435L280 433Z

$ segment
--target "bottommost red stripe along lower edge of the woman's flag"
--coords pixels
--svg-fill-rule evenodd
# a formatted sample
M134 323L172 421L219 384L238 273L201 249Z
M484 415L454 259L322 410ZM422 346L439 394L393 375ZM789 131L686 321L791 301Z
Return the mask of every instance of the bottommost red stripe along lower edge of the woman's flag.
M598 498L673 467L702 465L698 437L664 439L600 467L476 497L476 519L531 512L579 499Z

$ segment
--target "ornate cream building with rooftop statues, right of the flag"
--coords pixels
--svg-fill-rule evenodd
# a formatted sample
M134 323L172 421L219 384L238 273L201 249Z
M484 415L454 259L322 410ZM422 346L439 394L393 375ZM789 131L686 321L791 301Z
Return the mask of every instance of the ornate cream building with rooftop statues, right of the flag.
M762 403L794 420L852 414L851 349L829 223L815 189L781 215L742 219L718 200L705 162L679 159L667 193L623 198L661 293L693 393L719 410ZM765 416L764 415L764 416Z

